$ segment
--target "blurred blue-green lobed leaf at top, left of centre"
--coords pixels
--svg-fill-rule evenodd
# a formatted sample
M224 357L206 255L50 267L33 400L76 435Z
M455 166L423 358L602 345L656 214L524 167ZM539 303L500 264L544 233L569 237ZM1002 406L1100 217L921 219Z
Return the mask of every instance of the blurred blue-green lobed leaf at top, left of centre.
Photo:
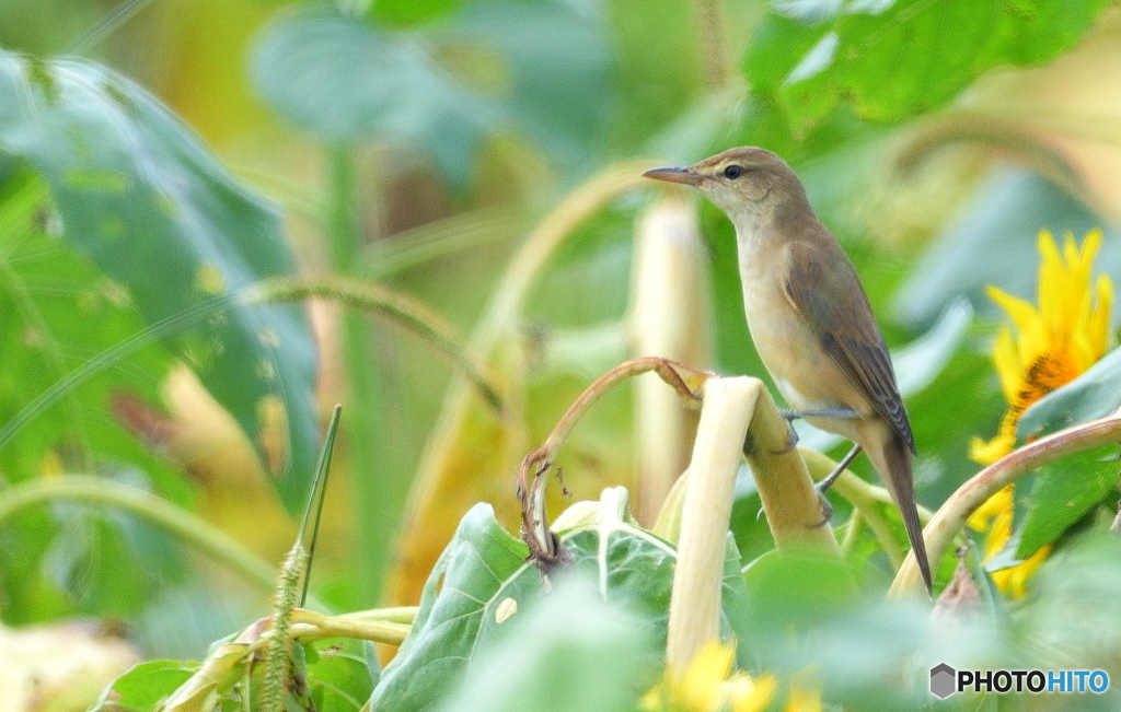
M303 8L265 29L253 79L319 140L414 144L458 184L482 139L509 127L569 165L587 158L608 87L593 21L560 2L485 2L437 29L407 36Z

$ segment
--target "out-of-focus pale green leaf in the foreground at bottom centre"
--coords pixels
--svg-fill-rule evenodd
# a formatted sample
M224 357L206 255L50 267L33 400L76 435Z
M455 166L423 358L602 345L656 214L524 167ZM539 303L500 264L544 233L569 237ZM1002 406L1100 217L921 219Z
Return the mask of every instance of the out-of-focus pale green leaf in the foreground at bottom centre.
M575 573L575 572L572 572ZM554 591L507 625L446 712L624 712L657 668L646 621L603 600L594 580L559 577Z

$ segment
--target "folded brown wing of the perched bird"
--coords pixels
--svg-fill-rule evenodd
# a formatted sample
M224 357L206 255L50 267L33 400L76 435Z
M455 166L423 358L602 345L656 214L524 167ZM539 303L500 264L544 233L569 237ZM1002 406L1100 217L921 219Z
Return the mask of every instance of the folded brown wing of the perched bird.
M915 435L868 296L847 255L831 235L826 237L815 241L813 247L802 241L789 244L786 296L818 335L822 348L868 394L876 411L914 452ZM851 303L841 303L830 294L851 294L846 300Z

